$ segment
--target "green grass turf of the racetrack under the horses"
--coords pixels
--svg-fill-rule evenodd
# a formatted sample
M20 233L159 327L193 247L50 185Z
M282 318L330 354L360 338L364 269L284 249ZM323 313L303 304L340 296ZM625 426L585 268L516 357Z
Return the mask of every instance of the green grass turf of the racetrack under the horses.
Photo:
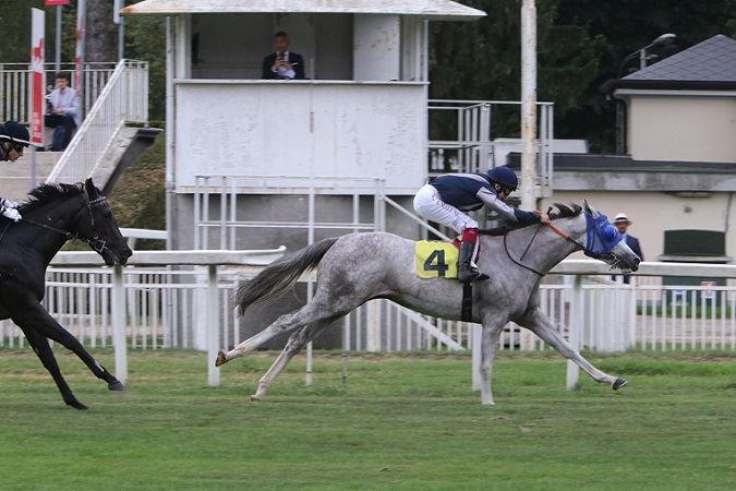
M112 364L109 351L97 352ZM614 393L564 388L557 356L503 354L496 407L479 405L464 356L321 354L297 359L264 403L248 396L274 354L225 366L132 352L129 391L109 393L69 354L91 406L62 405L32 354L0 351L0 488L703 490L736 483L736 358L592 356L629 379Z

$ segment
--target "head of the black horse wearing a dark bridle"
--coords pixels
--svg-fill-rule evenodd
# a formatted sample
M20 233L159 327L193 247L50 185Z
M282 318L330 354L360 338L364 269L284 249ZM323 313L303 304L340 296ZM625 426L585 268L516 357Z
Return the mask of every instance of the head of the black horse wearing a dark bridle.
M87 241L108 266L125 264L128 258L133 255L133 251L120 233L120 228L118 228L118 223L107 200L92 182L92 179L84 182L82 193L84 194L85 206L80 211L76 233Z

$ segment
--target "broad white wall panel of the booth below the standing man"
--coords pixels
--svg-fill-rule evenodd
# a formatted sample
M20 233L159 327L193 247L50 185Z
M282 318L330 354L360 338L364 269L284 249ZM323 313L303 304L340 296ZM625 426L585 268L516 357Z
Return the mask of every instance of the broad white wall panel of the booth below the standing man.
M426 85L191 81L176 85L177 187L195 175L426 177Z

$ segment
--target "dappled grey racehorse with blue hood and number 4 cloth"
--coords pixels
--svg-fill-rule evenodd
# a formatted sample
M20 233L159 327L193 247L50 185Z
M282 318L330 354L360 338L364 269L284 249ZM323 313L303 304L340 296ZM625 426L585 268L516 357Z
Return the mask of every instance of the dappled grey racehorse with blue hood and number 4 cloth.
M552 226L532 225L496 237L481 237L479 266L491 279L473 287L472 322L483 325L481 403L493 405L491 375L498 337L514 321L536 334L564 357L576 362L596 382L614 390L627 382L593 367L559 335L539 302L540 280L553 266L577 250L601 259L623 272L638 268L637 256L603 214L584 207L556 205ZM252 400L261 400L274 380L304 345L329 324L371 299L386 298L427 315L460 320L462 286L445 278L418 278L414 242L385 233L351 233L316 242L267 266L238 290L241 314L256 302L288 291L309 271L317 268L312 300L281 315L258 334L230 351L220 351L219 367L243 357L279 334L293 332L278 359L261 379Z

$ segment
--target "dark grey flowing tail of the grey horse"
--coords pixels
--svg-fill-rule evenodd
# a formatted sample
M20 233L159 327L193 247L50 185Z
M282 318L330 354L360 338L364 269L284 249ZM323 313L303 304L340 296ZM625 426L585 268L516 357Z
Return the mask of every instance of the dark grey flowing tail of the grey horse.
M307 270L313 270L319 264L337 237L321 240L301 251L269 264L255 278L243 283L236 295L236 306L241 315L253 303L266 302L283 295L297 279Z

